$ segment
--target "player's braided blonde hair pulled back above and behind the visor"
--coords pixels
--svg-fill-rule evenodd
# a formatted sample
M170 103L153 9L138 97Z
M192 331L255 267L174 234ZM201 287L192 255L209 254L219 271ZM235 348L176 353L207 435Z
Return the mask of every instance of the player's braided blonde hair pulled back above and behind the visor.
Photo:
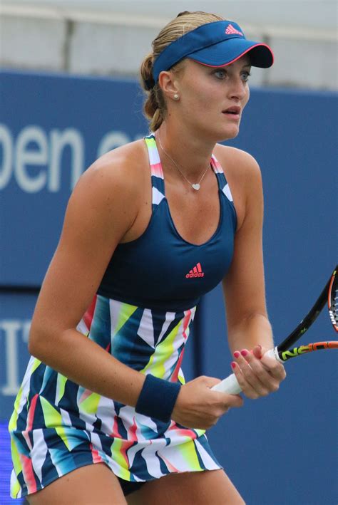
M150 121L150 130L155 132L163 123L167 105L163 96L162 90L158 83L153 80L153 62L160 53L177 38L180 38L188 31L195 30L198 26L212 23L213 21L225 21L225 18L217 16L217 14L208 14L203 11L180 12L178 16L170 21L153 40L153 52L145 56L140 66L140 83L143 90L147 93L147 98L143 105L143 113ZM182 68L181 62L176 63L171 70L180 71Z

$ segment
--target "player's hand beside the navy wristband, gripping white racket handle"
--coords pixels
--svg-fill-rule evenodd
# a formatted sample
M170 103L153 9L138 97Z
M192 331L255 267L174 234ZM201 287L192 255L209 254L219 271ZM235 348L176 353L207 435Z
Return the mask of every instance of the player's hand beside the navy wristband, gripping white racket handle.
M210 390L218 382L220 379L201 376L183 385L172 419L185 427L208 429L215 425L230 407L242 407L243 400L239 395Z

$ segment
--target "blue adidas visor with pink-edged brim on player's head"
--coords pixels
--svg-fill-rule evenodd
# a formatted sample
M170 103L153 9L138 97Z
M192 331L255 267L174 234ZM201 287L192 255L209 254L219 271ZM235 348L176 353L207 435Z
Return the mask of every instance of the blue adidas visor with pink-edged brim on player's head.
M214 21L188 31L170 43L156 58L153 79L169 70L183 58L212 67L230 65L246 53L252 66L268 68L273 63L273 53L264 43L248 41L234 21Z

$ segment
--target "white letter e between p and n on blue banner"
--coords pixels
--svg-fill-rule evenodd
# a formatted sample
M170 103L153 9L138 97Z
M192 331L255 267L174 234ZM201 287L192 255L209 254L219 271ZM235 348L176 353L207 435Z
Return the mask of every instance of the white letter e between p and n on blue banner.
M29 149L34 142L37 149ZM46 167L48 163L48 142L45 132L39 126L26 126L16 140L16 181L27 193L36 193L46 186L46 170L38 175L29 175L27 165ZM36 168L34 168L34 172Z

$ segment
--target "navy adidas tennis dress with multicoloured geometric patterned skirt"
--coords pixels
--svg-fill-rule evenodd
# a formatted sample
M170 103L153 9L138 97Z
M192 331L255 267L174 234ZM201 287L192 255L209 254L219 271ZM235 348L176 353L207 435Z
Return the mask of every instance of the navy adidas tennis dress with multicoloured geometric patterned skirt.
M155 137L146 137L145 143L153 194L150 222L138 239L118 245L77 329L130 368L184 384L181 363L196 304L230 266L236 214L225 175L212 155L220 221L205 244L185 241L170 216ZM129 482L220 468L202 429L139 414L34 357L9 429L14 498L99 462Z

